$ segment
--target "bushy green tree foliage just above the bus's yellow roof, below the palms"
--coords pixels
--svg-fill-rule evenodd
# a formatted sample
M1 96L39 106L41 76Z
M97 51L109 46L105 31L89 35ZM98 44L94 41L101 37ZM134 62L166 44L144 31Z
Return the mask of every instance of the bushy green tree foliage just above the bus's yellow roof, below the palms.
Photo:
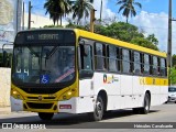
M57 26L47 25L45 28L57 28ZM72 21L69 21L69 24L67 24L66 28L89 31L89 24L77 25L72 23ZM144 35L139 32L139 29L135 25L129 23L113 22L112 24L109 25L96 24L95 33L158 51L157 47L158 41L154 34L148 35L145 38Z

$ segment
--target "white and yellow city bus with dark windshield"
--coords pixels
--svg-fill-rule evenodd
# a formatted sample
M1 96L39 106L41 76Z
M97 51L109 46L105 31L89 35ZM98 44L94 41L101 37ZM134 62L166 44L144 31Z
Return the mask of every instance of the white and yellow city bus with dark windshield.
M88 113L148 113L168 97L166 54L78 29L19 32L14 40L11 110Z

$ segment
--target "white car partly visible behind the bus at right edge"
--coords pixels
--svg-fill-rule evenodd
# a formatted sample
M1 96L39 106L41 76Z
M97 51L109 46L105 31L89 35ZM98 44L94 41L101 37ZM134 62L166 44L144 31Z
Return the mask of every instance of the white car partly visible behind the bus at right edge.
M175 102L176 103L176 86L168 87L168 100L167 102Z

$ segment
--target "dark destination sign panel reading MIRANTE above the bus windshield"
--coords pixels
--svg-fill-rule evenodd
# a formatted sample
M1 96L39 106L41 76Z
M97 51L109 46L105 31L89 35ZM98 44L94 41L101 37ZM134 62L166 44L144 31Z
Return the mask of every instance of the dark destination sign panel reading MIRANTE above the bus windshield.
M30 31L21 32L15 37L15 44L58 44L75 43L73 31Z

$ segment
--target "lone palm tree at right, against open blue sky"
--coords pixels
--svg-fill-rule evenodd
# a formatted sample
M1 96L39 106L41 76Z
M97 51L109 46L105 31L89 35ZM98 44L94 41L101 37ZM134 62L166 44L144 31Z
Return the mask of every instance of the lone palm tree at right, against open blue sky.
M135 2L134 0L118 0L117 4L121 4L121 7L119 9L119 12L121 10L123 10L122 15L127 18L127 23L128 23L130 14L131 14L131 16L135 16L136 15L134 6L139 7L140 9L142 8L141 3Z

